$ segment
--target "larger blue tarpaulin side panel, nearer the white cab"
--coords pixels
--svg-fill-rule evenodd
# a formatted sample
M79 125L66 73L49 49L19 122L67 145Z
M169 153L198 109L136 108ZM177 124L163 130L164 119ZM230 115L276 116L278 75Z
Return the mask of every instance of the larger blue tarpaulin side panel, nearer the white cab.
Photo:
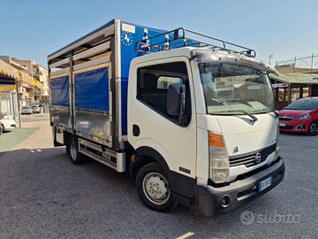
M76 73L74 85L76 109L110 110L108 68Z

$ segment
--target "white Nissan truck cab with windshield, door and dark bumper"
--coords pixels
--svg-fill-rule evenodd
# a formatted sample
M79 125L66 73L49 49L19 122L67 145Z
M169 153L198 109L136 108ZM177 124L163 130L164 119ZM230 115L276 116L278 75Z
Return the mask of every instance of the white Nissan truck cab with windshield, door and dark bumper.
M230 211L284 177L269 72L275 69L226 50L184 47L135 58L128 141L160 155L175 193L196 198L201 213ZM144 184L149 199L160 201Z

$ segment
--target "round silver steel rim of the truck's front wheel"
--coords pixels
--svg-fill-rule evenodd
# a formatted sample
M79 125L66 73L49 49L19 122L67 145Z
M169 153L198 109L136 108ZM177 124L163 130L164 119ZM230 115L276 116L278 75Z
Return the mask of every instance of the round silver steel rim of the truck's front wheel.
M160 173L148 173L142 181L142 189L153 204L162 205L170 197L169 183Z

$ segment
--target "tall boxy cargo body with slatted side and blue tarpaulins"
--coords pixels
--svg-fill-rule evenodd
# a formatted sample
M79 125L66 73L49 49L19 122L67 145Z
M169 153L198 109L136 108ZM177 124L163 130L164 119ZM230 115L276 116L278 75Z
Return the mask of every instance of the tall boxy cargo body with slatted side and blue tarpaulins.
M124 150L129 66L138 54L133 38L141 39L144 30L114 19L49 55L52 125ZM148 35L163 32L147 30Z

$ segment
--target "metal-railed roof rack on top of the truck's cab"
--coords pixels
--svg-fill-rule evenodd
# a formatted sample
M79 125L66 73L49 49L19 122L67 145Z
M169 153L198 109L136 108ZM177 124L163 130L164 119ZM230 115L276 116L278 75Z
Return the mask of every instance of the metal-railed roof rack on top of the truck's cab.
M194 40L192 38L188 38L186 34L195 35L196 37L199 36L199 38L204 39L204 41L212 40L216 43ZM218 45L220 43L221 46ZM256 56L256 52L253 49L246 48L235 43L226 42L224 40L212 36L203 35L201 33L197 33L183 27L179 27L169 32L165 32L163 34L155 35L152 37L148 37L148 33L144 33L142 40L140 40L139 42L135 42L134 50L141 52L142 54L148 54L162 50L177 49L186 46L216 50L227 50L229 52L235 52L253 58ZM233 49L230 49L229 47Z

